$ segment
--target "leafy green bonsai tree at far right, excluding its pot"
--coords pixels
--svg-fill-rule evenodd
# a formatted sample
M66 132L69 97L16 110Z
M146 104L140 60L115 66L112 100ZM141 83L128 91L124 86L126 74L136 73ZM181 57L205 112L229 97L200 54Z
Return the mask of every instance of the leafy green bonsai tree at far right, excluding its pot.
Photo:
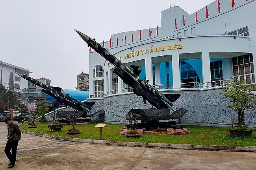
M222 85L224 93L220 94L233 103L227 107L237 112L236 126L246 126L244 112L256 106L256 95L252 95L252 91L255 91L255 84L248 86L245 84L245 80L239 81L232 77L231 79L232 80L226 80L228 84Z

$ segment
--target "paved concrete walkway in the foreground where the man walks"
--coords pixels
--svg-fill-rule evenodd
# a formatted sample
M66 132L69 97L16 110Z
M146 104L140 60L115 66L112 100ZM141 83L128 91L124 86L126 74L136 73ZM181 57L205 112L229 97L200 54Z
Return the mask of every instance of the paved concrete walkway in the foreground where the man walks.
M0 170L6 124L0 122ZM22 133L12 170L255 170L255 152L223 152L114 146L59 141Z

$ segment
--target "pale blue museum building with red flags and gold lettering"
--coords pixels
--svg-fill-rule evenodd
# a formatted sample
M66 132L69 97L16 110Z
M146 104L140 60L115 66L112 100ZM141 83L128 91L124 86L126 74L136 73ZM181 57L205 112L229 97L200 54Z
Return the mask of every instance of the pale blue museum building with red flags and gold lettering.
M161 12L161 26L117 33L100 44L121 62L143 68L139 76L161 93L179 93L173 108L189 110L183 123L227 126L236 113L219 95L221 84L230 77L255 83L255 9L256 0L216 0L191 15L174 6ZM114 68L89 51L88 101L96 102L92 113L104 110L106 122L122 124L130 109L151 105ZM246 124L256 127L254 109L245 117Z

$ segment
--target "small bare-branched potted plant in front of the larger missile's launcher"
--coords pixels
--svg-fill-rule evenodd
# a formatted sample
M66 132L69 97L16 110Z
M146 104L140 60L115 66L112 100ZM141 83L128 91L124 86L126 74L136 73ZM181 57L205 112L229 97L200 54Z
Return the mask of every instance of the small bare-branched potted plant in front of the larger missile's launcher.
M136 129L137 121L141 119L141 115L139 113L131 113L129 112L125 119L129 121L128 129L130 129L128 132L126 132L127 137L139 137L141 135L140 132L138 132Z

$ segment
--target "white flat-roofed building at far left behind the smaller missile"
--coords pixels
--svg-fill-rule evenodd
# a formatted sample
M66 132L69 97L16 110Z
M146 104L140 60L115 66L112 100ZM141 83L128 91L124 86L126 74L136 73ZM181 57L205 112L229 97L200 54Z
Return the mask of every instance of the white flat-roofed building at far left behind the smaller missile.
M30 72L28 69L14 66L12 64L0 61L0 84L9 89L9 84L14 83L15 89L28 88L28 81L21 79L15 72L28 75Z

